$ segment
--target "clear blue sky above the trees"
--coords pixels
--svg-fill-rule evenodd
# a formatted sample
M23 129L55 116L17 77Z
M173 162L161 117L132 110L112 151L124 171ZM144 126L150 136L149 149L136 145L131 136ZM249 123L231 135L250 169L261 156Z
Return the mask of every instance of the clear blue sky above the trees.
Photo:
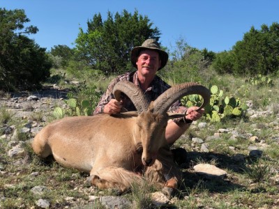
M146 15L160 29L160 42L172 49L183 38L191 47L222 52L232 49L251 26L260 29L279 22L278 0L0 0L7 10L24 9L30 24L39 31L31 36L40 47L74 47L79 27L86 30L87 20L107 11L123 9Z

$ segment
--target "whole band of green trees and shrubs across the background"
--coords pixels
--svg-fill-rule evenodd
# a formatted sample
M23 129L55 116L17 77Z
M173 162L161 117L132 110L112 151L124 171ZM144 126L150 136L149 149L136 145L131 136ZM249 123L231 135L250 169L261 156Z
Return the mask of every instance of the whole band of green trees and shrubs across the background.
M55 45L50 52L40 47L27 35L37 33L36 26L24 26L30 20L24 10L0 8L0 89L38 88L50 78L51 68L63 68L79 77L86 74L112 75L133 70L130 50L147 38L160 41L160 30L147 16L135 10L128 13L108 12L105 20L100 13L80 28L75 47ZM169 52L170 59L161 74L172 72L181 75L181 81L199 80L199 72L206 69L220 74L278 75L279 24L263 24L260 30L253 26L243 40L229 51L211 52L191 47L183 39Z

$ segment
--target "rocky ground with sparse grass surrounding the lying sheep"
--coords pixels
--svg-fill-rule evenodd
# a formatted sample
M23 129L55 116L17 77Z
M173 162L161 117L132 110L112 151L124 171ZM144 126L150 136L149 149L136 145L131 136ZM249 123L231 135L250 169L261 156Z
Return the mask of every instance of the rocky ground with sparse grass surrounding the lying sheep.
M113 208L112 203L118 208L156 208L160 200L163 208L278 208L278 80L272 87L243 80L225 82L218 84L227 86L225 94L242 96L249 108L245 116L219 123L201 119L176 141L174 147L185 148L188 158L179 165L184 183L170 200L150 185L116 196L114 191L85 185L87 173L64 169L33 154L30 142L54 120L55 107L67 107L69 88L48 86L44 91L3 94L0 208ZM194 169L197 164L211 164L227 174L200 175Z

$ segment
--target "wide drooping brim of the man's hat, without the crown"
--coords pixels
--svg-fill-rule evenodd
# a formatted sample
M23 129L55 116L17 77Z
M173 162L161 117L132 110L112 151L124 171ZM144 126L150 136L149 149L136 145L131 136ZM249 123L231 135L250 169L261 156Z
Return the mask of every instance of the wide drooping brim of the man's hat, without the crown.
M142 51L143 49L151 49L151 50L158 52L159 56L160 56L160 60L161 60L161 65L160 65L160 68L158 68L158 70L161 70L162 68L165 67L165 65L167 64L167 60L169 59L169 55L167 54L167 52L165 52L161 49L158 49L156 47L141 47L140 46L140 47L133 48L131 51L131 62L135 68L137 68L137 64L136 64L137 57L139 56L140 51Z

